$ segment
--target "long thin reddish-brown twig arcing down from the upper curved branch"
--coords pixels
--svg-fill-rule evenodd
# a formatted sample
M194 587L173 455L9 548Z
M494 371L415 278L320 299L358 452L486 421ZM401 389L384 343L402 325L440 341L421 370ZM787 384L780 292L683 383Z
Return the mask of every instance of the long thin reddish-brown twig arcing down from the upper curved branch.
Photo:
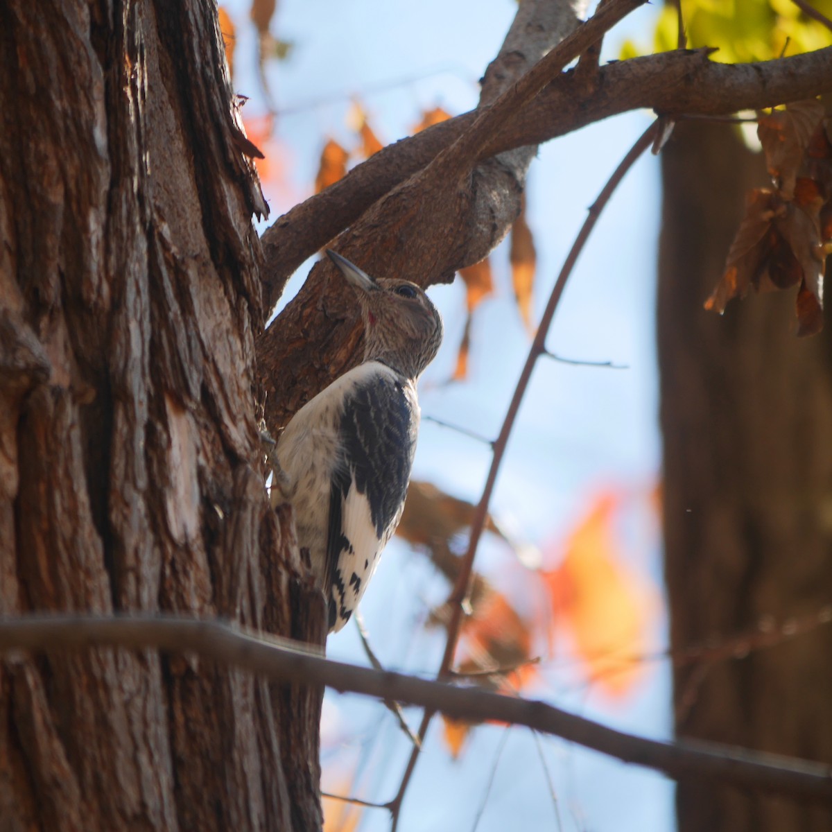
M649 126L646 131L641 134L636 143L631 147L630 151L627 152L626 156L624 156L616 170L613 171L612 176L609 181L607 181L607 184L602 188L597 200L592 203L592 206L590 206L587 212L587 219L584 220L581 230L578 232L574 243L572 243L572 249L569 251L567 259L563 263L560 274L557 275L557 280L555 281L554 288L552 289L552 294L549 295L546 310L543 311L540 325L538 326L537 333L532 341L532 347L529 349L526 364L523 365L520 379L518 380L517 387L514 389L512 400L508 405L508 412L503 420L503 427L500 428L500 433L494 443L491 468L488 470L488 478L486 478L485 487L483 488L483 496L480 498L477 508L474 509L473 521L471 523L471 534L468 538L468 550L465 552L465 555L460 563L457 582L454 585L453 592L451 592L451 596L448 599L451 617L448 622L448 639L445 643L442 663L439 666L437 675L438 679L443 679L448 676L448 671L450 671L451 664L453 662L453 653L456 649L459 629L462 624L465 601L468 597L469 584L473 574L473 559L477 554L479 539L482 537L483 527L485 526L486 518L488 518L488 505L491 502L494 483L497 482L497 473L500 468L500 463L503 461L503 454L505 453L506 446L508 444L508 437L514 426L514 421L517 418L522 397L526 393L528 383L532 378L532 370L534 369L534 365L537 363L537 359L546 349L545 340L549 327L552 324L555 310L557 310L557 305L561 300L561 296L564 288L566 287L569 275L572 274L572 269L577 262L578 255L580 255L583 250L583 246L586 245L587 239L589 238L592 229L595 227L598 216L601 214L604 206L607 205L613 191L616 190L619 182L621 182L626 175L626 172L630 170L633 164L635 164L638 157L641 156L641 154L646 151L649 146L651 146L653 136L656 135L656 129L657 122L654 121L651 126ZM430 725L432 719L433 712L425 711L422 718L422 724L419 726L418 730L418 736L422 741L424 741L424 737L427 734L428 726ZM404 770L404 775L401 783L399 784L399 791L394 799L390 801L391 805L394 806L394 809L391 810L393 813L393 825L391 832L396 832L396 827L399 821L399 810L401 810L402 801L404 800L404 794L407 791L410 778L413 776L416 761L418 760L418 753L419 751L416 747L411 750L408 765Z

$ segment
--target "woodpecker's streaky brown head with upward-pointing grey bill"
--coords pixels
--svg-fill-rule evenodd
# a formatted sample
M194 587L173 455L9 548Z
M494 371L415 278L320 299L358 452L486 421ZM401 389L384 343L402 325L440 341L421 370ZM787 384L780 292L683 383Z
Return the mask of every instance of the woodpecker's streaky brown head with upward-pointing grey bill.
M334 251L329 259L353 285L364 316L364 361L381 361L409 379L430 364L442 343L442 318L415 283L374 278Z

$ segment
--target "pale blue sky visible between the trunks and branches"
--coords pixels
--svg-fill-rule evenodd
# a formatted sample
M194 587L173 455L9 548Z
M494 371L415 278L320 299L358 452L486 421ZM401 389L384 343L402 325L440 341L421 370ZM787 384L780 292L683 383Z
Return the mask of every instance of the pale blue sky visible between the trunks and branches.
M254 33L248 2L230 2L237 24L235 89L251 97L246 113L260 106ZM496 54L516 4L513 0L421 3L369 0L284 0L272 29L295 42L290 59L270 67L270 88L287 178L287 195L269 194L272 220L292 199L308 196L319 153L333 136L354 142L347 126L350 97L358 96L382 141L405 136L420 111L443 106L470 109L477 79ZM645 42L655 12L631 15L607 38L616 57L624 37ZM418 80L412 80L418 78ZM408 82L394 84L401 79ZM389 86L386 89L382 87ZM324 102L317 103L315 102ZM528 222L537 247L534 309L542 312L586 209L618 161L649 124L648 113L631 113L542 146L527 187ZM493 498L493 513L532 545L562 537L586 510L587 499L608 485L650 488L660 468L654 344L655 259L659 217L659 171L655 158L639 161L617 191L578 262L547 339L552 352L572 359L612 360L627 369L596 369L541 359L522 405ZM423 415L441 418L493 437L503 420L529 339L513 300L508 248L493 254L496 291L478 309L473 326L469 378L443 384L453 371L464 324L459 281L430 295L443 313L446 338L423 377ZM359 264L360 265L360 264ZM285 300L305 279L305 264ZM482 443L424 422L414 477L476 502L490 455ZM651 576L661 591L657 542L636 552L632 567ZM499 542L483 541L478 564L498 574L513 554ZM384 554L362 611L381 660L408 671L438 666L441 633L423 631L428 604L447 587L425 559L394 540ZM651 642L666 642L663 620ZM365 663L354 628L329 640L329 655ZM535 691L558 706L580 711L631 732L667 736L670 730L669 671L651 668L636 696L611 703L574 674L552 676L547 691ZM410 715L418 723L418 713ZM503 740L503 728L473 732L459 760L452 760L433 723L423 759L404 805L399 829L471 829ZM392 717L377 703L328 696L324 711L324 770L336 788L368 800L389 800L409 753ZM545 760L545 766L542 760ZM557 795L558 827L547 773ZM340 780L339 780L340 779ZM510 825L510 827L509 827ZM535 740L525 730L509 736L499 756L478 830L670 830L672 787L658 775L619 765L558 740ZM386 830L384 811L364 812L361 830Z

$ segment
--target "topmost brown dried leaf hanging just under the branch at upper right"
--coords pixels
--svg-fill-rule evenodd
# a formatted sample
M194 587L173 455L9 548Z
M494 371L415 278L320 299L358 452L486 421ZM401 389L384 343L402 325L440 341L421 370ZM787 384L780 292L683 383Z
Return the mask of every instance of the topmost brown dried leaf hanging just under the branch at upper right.
M806 147L823 117L824 106L816 98L787 104L785 110L760 116L757 136L775 187L785 200L794 195Z

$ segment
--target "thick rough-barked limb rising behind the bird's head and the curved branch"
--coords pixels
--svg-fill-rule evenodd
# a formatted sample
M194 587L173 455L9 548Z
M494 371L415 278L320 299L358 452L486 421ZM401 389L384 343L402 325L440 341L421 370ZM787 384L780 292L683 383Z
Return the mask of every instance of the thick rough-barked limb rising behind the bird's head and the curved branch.
M483 77L486 106L516 82L576 26L567 2L523 0L503 47ZM449 282L456 270L482 260L506 235L520 210L526 171L535 146L478 164L446 157L378 201L339 237L340 253L371 275L397 276L419 285ZM346 226L340 225L339 230ZM280 261L269 243L270 262ZM324 240L322 240L324 242ZM280 268L278 268L280 270ZM288 276L288 275L287 275ZM265 418L280 428L307 400L360 360L358 305L328 260L310 272L304 288L257 344ZM325 333L323 342L310 333ZM287 368L295 374L273 373Z

